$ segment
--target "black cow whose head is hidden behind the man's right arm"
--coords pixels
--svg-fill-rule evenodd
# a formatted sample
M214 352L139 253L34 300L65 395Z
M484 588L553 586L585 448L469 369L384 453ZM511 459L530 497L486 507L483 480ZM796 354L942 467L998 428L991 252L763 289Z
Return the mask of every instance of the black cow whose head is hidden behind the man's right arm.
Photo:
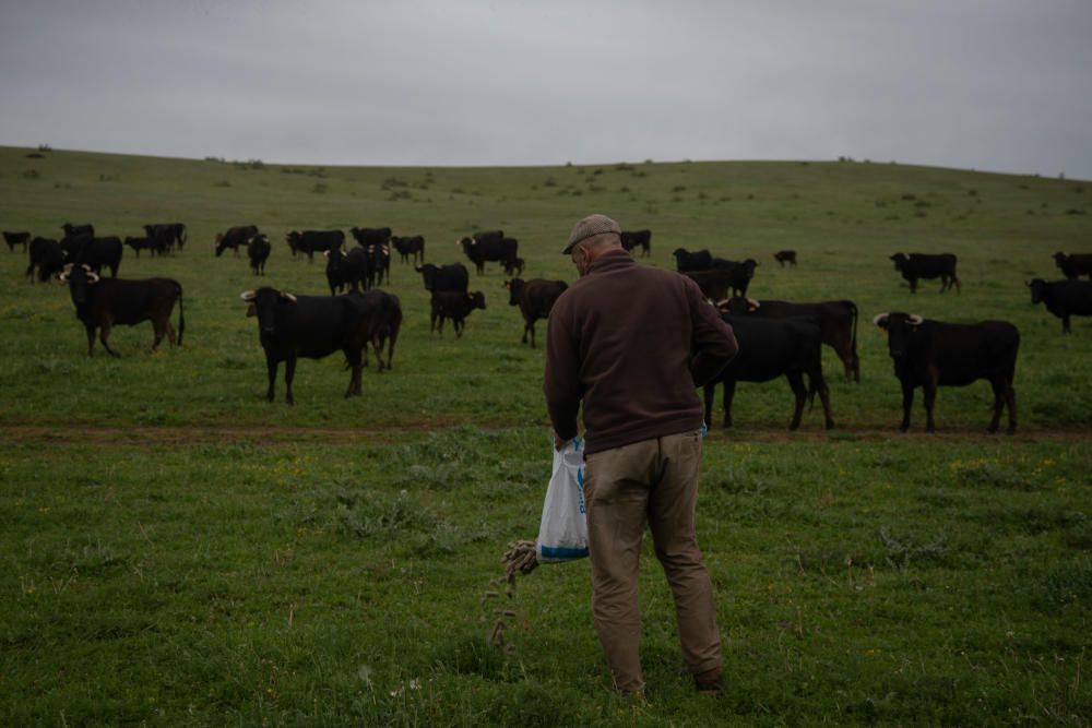
M728 366L704 385L705 425L713 426L713 397L717 383L724 384L724 427L732 427L732 399L736 382L769 382L785 377L796 396L790 430L800 426L804 403L810 396L819 395L822 403L823 420L827 429L834 427L830 414L830 389L822 375L820 346L822 335L819 323L811 318L774 321L752 317L723 314L732 326L739 353ZM808 386L804 386L804 375L808 375Z

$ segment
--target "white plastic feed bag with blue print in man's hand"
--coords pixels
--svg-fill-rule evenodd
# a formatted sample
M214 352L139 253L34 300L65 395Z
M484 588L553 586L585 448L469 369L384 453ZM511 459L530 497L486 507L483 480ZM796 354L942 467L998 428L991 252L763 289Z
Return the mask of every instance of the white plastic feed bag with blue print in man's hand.
M560 563L587 556L584 508L584 443L573 438L554 451L554 475L546 488L536 546L539 563Z

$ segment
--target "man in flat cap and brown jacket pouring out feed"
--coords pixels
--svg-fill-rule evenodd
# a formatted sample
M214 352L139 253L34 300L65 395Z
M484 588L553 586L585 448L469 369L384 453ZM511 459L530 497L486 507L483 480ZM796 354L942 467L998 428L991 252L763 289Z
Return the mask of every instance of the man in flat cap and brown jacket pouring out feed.
M720 694L721 637L695 534L702 405L696 392L736 355L698 285L639 265L605 215L577 223L562 253L580 279L549 317L543 392L558 447L583 403L592 611L615 688L642 696L638 559L648 523L675 598L682 658Z

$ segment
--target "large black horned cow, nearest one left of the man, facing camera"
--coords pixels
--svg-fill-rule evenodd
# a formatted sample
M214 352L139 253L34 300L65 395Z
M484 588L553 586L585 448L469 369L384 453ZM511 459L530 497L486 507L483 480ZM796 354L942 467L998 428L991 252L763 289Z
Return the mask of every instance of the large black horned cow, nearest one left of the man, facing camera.
M265 351L269 390L273 402L276 370L284 366L285 402L295 404L292 381L296 360L322 359L334 351L345 354L348 389L345 396L360 395L361 353L368 342L364 300L358 296L293 296L264 287L248 290L240 298L250 303L248 317L258 317L258 337Z

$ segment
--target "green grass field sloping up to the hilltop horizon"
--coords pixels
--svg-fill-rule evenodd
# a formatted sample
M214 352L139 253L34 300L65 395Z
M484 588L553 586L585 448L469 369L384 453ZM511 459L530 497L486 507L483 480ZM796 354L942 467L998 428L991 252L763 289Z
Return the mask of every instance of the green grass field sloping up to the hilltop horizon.
M0 147L0 227L59 237L183 222L185 252L122 277L185 288L181 348L147 324L86 357L67 289L0 250L0 720L4 725L709 725L1092 721L1092 322L1073 334L1023 282L1092 252L1092 182L868 163L631 162L551 168L283 167ZM750 295L852 298L859 385L824 368L838 428L786 430L787 384L741 384L705 441L699 537L728 688L679 676L669 594L642 563L651 706L614 697L586 564L482 596L537 529L549 475L543 354L520 344L495 265L465 335L428 332L392 264L405 324L391 372L343 399L337 357L302 361L296 406L264 401L241 291L327 291L290 229L389 225L427 259L503 228L525 277L572 281L572 223L604 212L670 251L753 256ZM256 224L264 281L213 237ZM771 254L799 252L796 270ZM963 291L911 295L888 256L959 255ZM984 433L986 383L941 390L912 431L876 313L1020 327L1019 430ZM176 312L177 314L177 312ZM539 336L544 338L544 324ZM720 423L719 418L715 422ZM507 654L486 644L510 608Z

